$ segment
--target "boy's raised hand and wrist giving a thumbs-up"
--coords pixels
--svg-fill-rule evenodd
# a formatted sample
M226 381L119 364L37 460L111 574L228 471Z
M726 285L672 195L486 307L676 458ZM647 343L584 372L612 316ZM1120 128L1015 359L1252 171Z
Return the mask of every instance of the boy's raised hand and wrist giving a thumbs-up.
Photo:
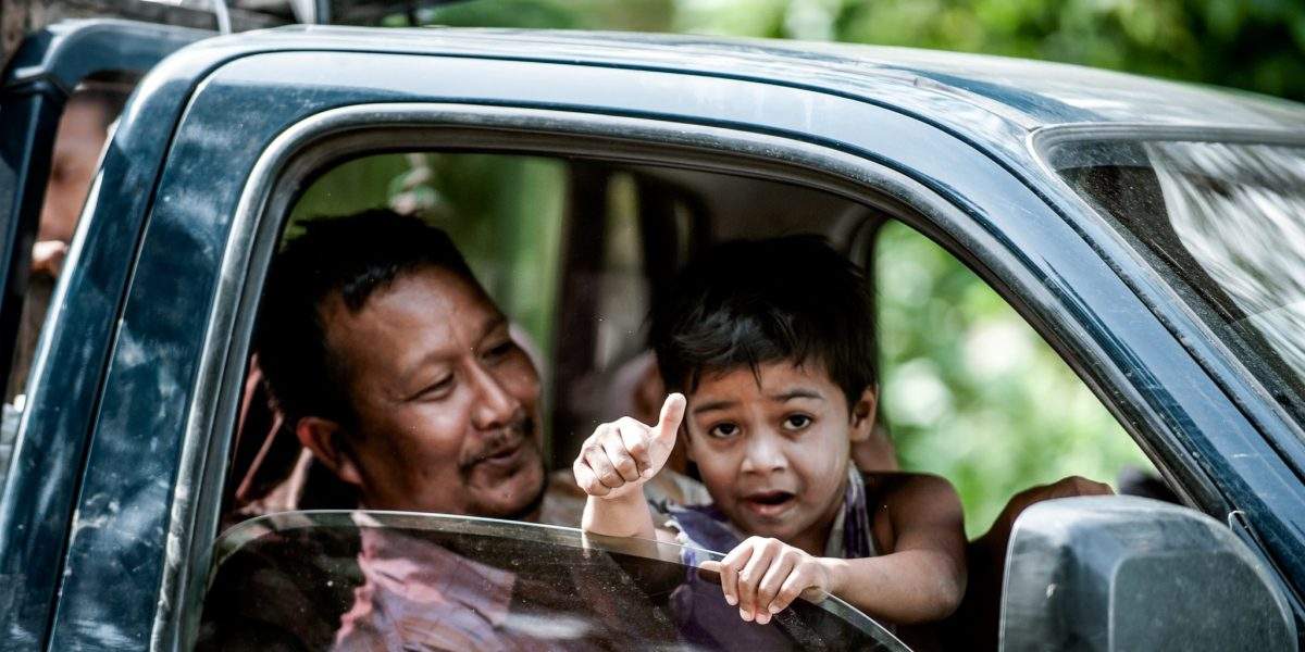
M594 430L572 466L576 484L589 494L581 527L607 536L655 539L643 482L671 456L684 419L685 399L671 394L656 425L625 417Z

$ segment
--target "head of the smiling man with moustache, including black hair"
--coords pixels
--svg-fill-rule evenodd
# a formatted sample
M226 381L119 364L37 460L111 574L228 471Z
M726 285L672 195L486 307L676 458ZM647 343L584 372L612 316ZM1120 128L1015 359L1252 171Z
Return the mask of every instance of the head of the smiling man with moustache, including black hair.
M539 376L444 232L389 211L311 223L262 305L274 402L361 507L538 519Z

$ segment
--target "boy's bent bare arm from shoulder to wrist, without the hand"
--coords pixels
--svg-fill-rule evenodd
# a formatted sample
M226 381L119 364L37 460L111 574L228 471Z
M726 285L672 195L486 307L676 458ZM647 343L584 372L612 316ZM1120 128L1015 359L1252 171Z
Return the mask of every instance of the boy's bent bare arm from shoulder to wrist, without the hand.
M946 480L912 476L885 497L893 552L867 559L821 559L829 592L869 615L910 625L951 615L966 593L960 498Z

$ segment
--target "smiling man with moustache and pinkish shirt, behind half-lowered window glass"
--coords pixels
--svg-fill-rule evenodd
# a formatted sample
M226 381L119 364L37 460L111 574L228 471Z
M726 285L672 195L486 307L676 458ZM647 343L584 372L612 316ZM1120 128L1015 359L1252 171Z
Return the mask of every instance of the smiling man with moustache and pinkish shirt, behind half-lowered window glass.
M574 482L544 469L535 365L442 231L382 210L307 224L273 262L256 349L286 428L355 490L335 507L578 523ZM364 582L339 614L333 587L288 579L317 576L339 548L282 542L247 556L274 572L219 572L201 647L547 649L504 627L509 570L361 527ZM299 615L241 602L268 593Z

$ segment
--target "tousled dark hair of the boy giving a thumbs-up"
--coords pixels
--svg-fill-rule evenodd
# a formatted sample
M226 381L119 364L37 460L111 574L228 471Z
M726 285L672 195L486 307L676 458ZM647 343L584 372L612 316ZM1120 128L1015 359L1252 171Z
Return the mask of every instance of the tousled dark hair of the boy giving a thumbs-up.
M851 408L877 383L865 276L818 236L716 245L677 276L652 312L650 339L667 387L763 363L816 363Z

